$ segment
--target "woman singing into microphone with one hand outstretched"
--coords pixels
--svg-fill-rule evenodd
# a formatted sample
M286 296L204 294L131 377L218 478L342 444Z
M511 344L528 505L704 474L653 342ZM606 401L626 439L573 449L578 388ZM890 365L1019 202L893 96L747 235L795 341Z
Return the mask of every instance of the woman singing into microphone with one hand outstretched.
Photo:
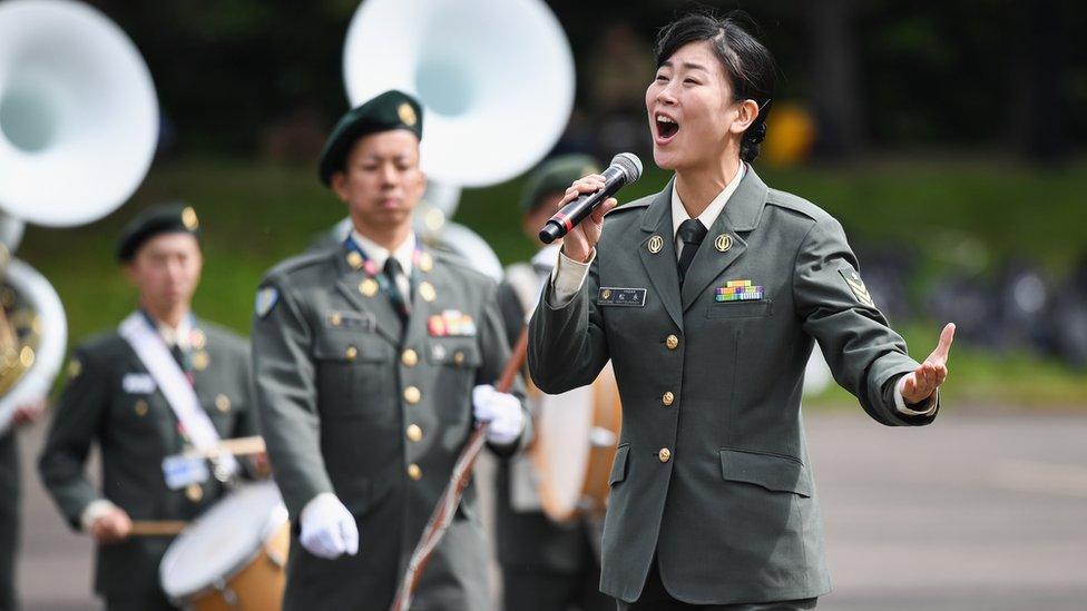
M912 359L842 226L751 165L774 70L732 16L662 30L645 101L654 161L675 177L570 231L532 317L542 391L615 367L624 422L600 587L620 609L812 609L830 591L801 421L816 343L878 422L939 410L954 326ZM566 201L603 187L586 176Z

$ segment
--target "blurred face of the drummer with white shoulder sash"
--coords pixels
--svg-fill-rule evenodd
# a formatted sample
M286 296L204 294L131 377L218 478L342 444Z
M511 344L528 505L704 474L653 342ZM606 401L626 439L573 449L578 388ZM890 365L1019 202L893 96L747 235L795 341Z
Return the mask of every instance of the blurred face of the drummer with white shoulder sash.
M165 312L192 303L203 266L196 237L173 233L144 243L125 272L139 290L140 302L155 312Z

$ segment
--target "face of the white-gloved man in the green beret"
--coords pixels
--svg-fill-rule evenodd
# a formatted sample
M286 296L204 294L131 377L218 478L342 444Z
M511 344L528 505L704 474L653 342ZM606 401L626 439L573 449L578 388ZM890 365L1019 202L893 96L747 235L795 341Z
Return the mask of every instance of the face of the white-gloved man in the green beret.
M410 224L425 188L419 138L404 129L363 136L344 170L332 175L332 189L347 204L355 226L375 231Z

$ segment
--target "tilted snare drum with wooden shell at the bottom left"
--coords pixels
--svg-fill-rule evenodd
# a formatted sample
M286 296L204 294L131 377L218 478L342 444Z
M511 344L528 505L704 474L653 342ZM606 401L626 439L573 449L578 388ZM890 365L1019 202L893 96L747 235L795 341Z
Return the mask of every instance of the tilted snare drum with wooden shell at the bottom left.
M280 609L290 544L280 491L272 482L249 484L174 540L159 580L166 595L196 611Z

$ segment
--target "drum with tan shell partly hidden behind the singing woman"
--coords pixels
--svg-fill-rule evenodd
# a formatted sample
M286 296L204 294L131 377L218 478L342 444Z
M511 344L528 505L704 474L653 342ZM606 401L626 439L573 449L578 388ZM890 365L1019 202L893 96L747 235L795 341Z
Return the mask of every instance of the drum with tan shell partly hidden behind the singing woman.
M603 515L623 406L608 362L596 382L560 395L540 394L530 453L544 512L555 521Z

